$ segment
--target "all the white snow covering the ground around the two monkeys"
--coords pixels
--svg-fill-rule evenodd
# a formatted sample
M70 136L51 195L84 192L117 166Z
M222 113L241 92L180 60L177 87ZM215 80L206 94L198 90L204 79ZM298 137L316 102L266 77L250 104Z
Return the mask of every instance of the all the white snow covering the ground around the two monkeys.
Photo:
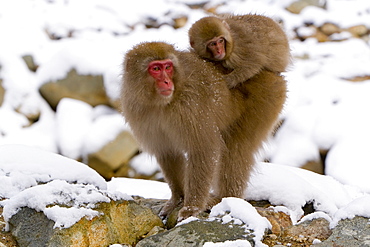
M196 2L0 1L0 78L6 89L0 107L0 199L5 199L0 203L6 220L20 207L28 206L43 211L56 222L55 227L68 227L81 217L96 216L94 203L98 201L130 199L128 195L169 198L164 183L127 178L105 182L95 171L72 160L98 150L127 126L120 114L108 107L91 107L72 99L62 100L55 114L38 88L76 68L82 74L102 74L108 94L117 98L123 56L133 45L167 41L178 49L188 48L187 30L206 15L184 4ZM208 5L219 2L223 1L211 0ZM368 0L327 0L326 10L306 7L299 15L285 10L291 2L231 0L218 11L280 19L290 38L295 28L310 31L304 27L307 22L370 27ZM169 25L146 29L142 24L150 17L171 23L182 14L189 20L179 29ZM67 38L70 31L72 37ZM47 32L62 39L50 40ZM345 80L370 75L370 42L352 38L347 32L336 35L346 40L291 40L295 59L286 73L289 99L282 113L285 122L267 150L274 164L258 164L247 190L247 199L283 205L275 210L289 213L294 223L325 217L334 227L340 219L370 217L370 81ZM36 73L29 71L21 58L27 54L39 65ZM40 120L28 127L24 114L37 112L41 112ZM296 168L317 159L320 149L330 149L326 176ZM146 154L132 165L142 171L158 169L155 159ZM68 198L62 191L69 193ZM56 202L71 206L71 211L46 207ZM313 202L318 212L301 219L307 202ZM262 246L259 240L269 224L248 202L226 198L211 212L211 216L219 214L226 214L225 222L248 224L255 230L257 246ZM221 244L206 244L216 245Z

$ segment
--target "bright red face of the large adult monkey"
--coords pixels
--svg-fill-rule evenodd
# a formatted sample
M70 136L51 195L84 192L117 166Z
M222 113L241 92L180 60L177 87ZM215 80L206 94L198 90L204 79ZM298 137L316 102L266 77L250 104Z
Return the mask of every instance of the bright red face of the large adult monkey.
M148 65L149 74L155 79L155 86L160 95L171 96L174 90L172 81L173 63L170 59L152 61Z

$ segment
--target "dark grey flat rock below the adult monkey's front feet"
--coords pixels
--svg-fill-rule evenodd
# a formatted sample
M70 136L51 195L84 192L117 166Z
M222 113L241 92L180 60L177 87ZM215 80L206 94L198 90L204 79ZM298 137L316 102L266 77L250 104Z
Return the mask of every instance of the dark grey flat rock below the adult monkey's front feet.
M252 246L253 233L243 225L223 224L220 221L192 221L169 231L147 237L136 247L190 247L203 246L205 242L225 242L227 240L248 240Z

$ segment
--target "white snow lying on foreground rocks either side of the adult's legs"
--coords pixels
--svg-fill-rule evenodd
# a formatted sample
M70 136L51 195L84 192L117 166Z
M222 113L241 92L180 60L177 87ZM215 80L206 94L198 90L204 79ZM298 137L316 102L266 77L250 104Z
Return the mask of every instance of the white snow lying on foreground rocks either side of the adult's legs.
M68 228L82 217L92 219L98 216L99 212L94 210L98 202L131 200L129 195L157 199L171 196L166 183L130 178L113 178L106 182L85 164L21 145L0 146L0 184L0 198L4 199L0 205L4 207L6 221L27 206L44 212L57 228ZM370 217L369 194L357 187L343 185L332 177L295 167L259 163L246 195L248 200L269 200L281 205L274 209L288 213L293 223L302 218L302 207L307 203L313 203L317 212L301 221L322 217L334 227L339 220L355 215ZM210 218L215 217L221 217L223 223L244 223L247 229L254 231L257 246L263 246L263 234L271 228L266 218L239 198L224 198L211 210ZM248 246L245 241L224 244Z

